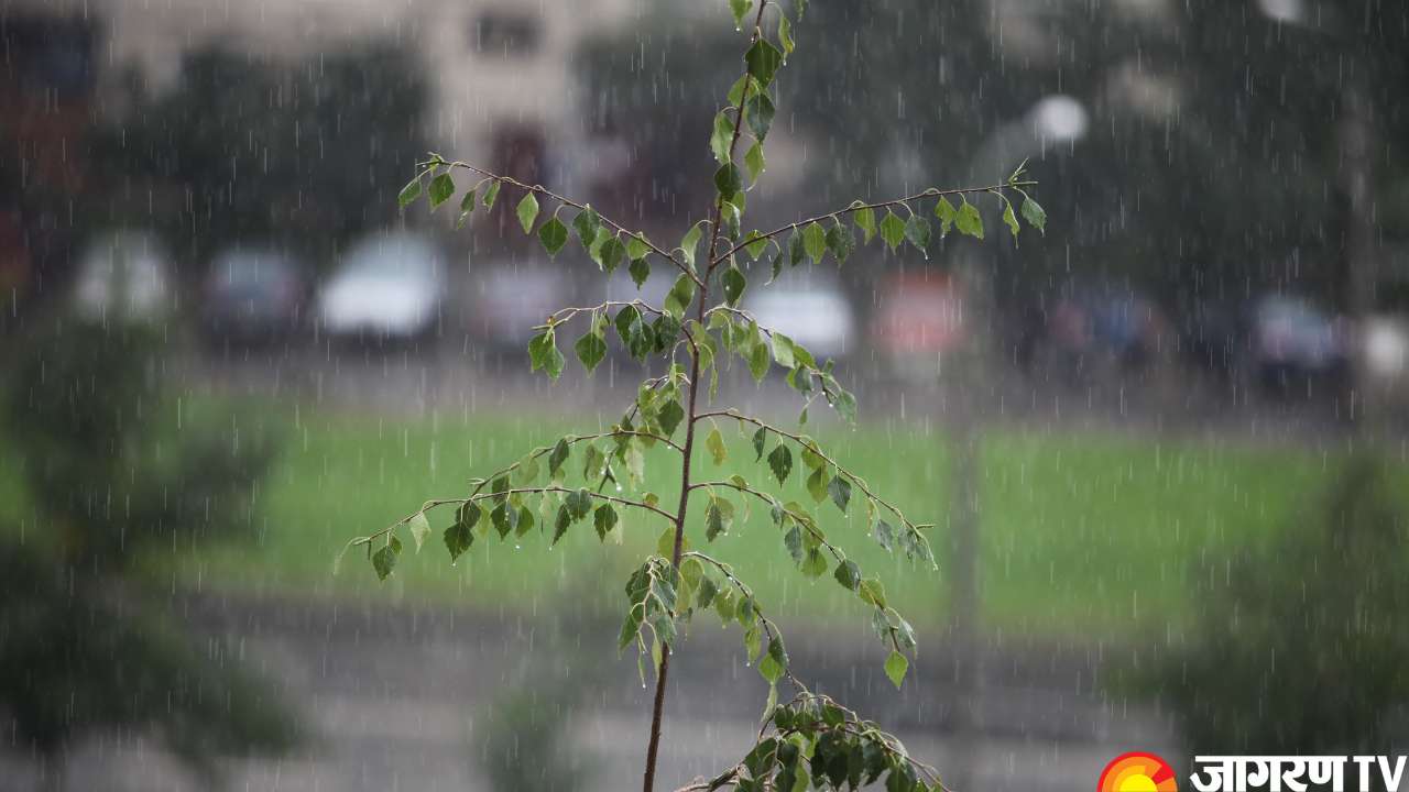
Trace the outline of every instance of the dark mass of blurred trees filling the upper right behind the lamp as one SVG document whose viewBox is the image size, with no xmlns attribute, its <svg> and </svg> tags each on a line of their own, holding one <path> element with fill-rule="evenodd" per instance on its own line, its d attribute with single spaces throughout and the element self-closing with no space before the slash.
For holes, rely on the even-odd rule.
<svg viewBox="0 0 1409 792">
<path fill-rule="evenodd" d="M 879 182 L 964 180 L 974 156 L 1044 96 L 1092 114 L 1085 140 L 1031 166 L 1053 223 L 996 272 L 1000 297 L 1050 290 L 1071 268 L 1134 280 L 1167 304 L 1260 286 L 1341 295 L 1339 121 L 1364 86 L 1377 196 L 1409 171 L 1409 8 L 1381 0 L 817 4 L 819 52 L 793 73 L 797 121 L 831 166 L 821 194 Z M 1284 6 L 1284 4 L 1272 4 Z M 931 85 L 912 96 L 906 85 Z M 1403 230 L 1403 203 L 1379 228 Z M 1386 213 L 1388 211 L 1388 213 Z M 1034 255 L 1038 254 L 1038 255 Z"/>
</svg>

